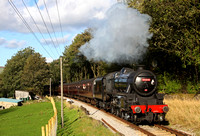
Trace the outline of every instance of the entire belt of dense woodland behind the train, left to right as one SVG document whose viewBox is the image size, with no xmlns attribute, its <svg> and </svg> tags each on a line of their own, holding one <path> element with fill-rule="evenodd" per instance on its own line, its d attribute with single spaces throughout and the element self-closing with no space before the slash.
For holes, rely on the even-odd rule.
<svg viewBox="0 0 200 136">
<path fill-rule="evenodd" d="M 200 3 L 198 0 L 130 0 L 130 8 L 152 17 L 148 51 L 135 64 L 107 64 L 88 61 L 79 48 L 92 38 L 92 28 L 78 34 L 63 52 L 65 82 L 73 82 L 143 64 L 158 76 L 159 91 L 197 93 L 200 91 Z M 126 20 L 124 20 L 126 21 Z M 153 66 L 152 66 L 153 63 Z M 52 78 L 59 85 L 59 59 L 47 64 L 45 58 L 28 47 L 7 61 L 0 75 L 0 96 L 13 96 L 14 90 L 43 94 Z M 155 67 L 155 65 L 157 65 Z M 54 88 L 55 89 L 55 88 Z"/>
</svg>

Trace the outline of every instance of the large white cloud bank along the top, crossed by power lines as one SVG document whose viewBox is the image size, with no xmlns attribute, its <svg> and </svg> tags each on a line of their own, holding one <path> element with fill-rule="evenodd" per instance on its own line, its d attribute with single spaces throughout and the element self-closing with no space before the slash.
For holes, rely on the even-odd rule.
<svg viewBox="0 0 200 136">
<path fill-rule="evenodd" d="M 22 1 L 12 0 L 16 4 L 18 10 L 21 12 L 24 19 L 28 22 L 34 32 L 38 32 L 32 21 L 26 8 L 23 6 Z M 25 1 L 25 0 L 24 0 Z M 80 29 L 88 27 L 88 24 L 95 20 L 100 20 L 104 17 L 106 10 L 116 3 L 116 0 L 57 0 L 59 13 L 61 17 L 61 23 L 63 31 L 70 31 L 73 29 Z M 58 19 L 58 12 L 55 0 L 45 0 L 48 7 L 48 11 L 51 17 L 51 21 L 55 28 L 55 31 L 60 31 L 60 24 Z M 35 6 L 34 2 L 30 4 L 30 0 L 25 3 L 28 6 L 30 13 L 32 14 L 35 22 L 43 33 L 46 33 L 46 28 L 40 17 L 40 14 Z M 31 6 L 30 6 L 31 5 Z M 43 0 L 38 1 L 38 5 L 41 8 L 41 13 L 48 26 L 49 31 L 52 32 L 50 21 L 44 8 Z M 0 2 L 0 30 L 11 30 L 16 32 L 29 32 L 17 14 L 14 12 L 8 1 L 3 0 Z"/>
</svg>

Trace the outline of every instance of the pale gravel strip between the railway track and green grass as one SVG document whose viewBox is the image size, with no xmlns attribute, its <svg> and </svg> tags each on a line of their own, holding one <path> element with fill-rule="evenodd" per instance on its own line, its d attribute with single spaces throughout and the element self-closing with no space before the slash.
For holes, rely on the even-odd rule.
<svg viewBox="0 0 200 136">
<path fill-rule="evenodd" d="M 68 100 L 69 99 L 67 99 L 67 101 Z M 122 121 L 117 120 L 114 117 L 107 115 L 106 113 L 104 113 L 100 110 L 97 110 L 83 102 L 80 102 L 80 101 L 77 101 L 74 99 L 72 99 L 72 101 L 73 101 L 72 105 L 76 105 L 79 107 L 82 106 L 82 107 L 86 108 L 87 111 L 89 111 L 88 116 L 90 116 L 96 120 L 99 120 L 101 122 L 102 122 L 102 119 L 104 119 L 108 124 L 110 124 L 113 128 L 115 128 L 117 131 L 119 131 L 122 135 L 125 135 L 125 136 L 142 136 L 143 135 L 142 133 L 130 128 L 127 124 L 123 123 Z"/>
</svg>

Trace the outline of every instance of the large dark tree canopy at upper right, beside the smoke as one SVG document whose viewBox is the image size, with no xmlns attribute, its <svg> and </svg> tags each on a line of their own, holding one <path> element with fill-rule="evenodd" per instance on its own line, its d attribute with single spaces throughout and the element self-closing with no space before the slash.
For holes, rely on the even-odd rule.
<svg viewBox="0 0 200 136">
<path fill-rule="evenodd" d="M 152 17 L 149 40 L 150 55 L 159 58 L 159 63 L 174 56 L 172 61 L 181 63 L 163 64 L 162 67 L 177 67 L 172 74 L 190 77 L 198 82 L 200 74 L 200 3 L 195 0 L 131 0 L 130 7 Z M 181 73 L 182 72 L 182 73 Z M 191 75 L 191 76 L 190 76 Z"/>
</svg>

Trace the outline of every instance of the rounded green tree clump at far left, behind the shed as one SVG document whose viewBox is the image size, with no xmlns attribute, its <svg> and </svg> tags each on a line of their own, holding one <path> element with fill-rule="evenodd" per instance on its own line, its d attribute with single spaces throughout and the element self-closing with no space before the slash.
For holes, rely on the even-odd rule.
<svg viewBox="0 0 200 136">
<path fill-rule="evenodd" d="M 15 90 L 28 89 L 42 93 L 48 77 L 48 66 L 45 58 L 31 48 L 25 48 L 7 61 L 2 73 L 2 90 L 11 97 Z"/>
</svg>

